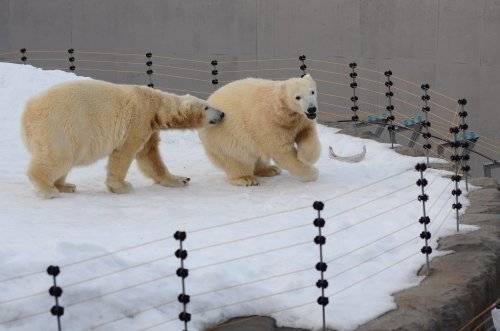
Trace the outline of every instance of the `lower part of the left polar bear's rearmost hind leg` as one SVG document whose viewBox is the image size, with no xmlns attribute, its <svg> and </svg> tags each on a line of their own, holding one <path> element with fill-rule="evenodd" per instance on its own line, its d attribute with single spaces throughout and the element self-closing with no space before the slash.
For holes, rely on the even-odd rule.
<svg viewBox="0 0 500 331">
<path fill-rule="evenodd" d="M 55 170 L 57 169 L 52 164 L 46 164 L 35 158 L 28 167 L 28 178 L 35 187 L 37 195 L 43 199 L 59 196 L 59 190 L 54 185 L 55 179 L 59 177 Z"/>
</svg>

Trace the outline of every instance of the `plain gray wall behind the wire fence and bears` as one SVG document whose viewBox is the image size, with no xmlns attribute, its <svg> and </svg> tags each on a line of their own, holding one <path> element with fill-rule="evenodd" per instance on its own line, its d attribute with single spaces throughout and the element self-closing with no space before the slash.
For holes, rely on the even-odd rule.
<svg viewBox="0 0 500 331">
<path fill-rule="evenodd" d="M 77 51 L 137 54 L 152 51 L 202 61 L 184 65 L 207 70 L 207 74 L 193 73 L 207 80 L 211 78 L 208 62 L 213 58 L 222 61 L 296 58 L 304 53 L 308 59 L 343 64 L 355 61 L 371 70 L 391 69 L 406 80 L 427 82 L 452 98 L 466 98 L 471 127 L 493 139 L 482 151 L 496 159 L 500 158 L 500 146 L 496 143 L 500 141 L 499 44 L 500 0 L 0 0 L 0 53 L 14 52 L 0 56 L 0 61 L 18 59 L 17 52 L 22 47 L 59 51 L 73 47 Z M 63 62 L 67 54 L 42 55 L 61 58 L 62 62 L 31 63 L 67 66 Z M 33 61 L 36 56 L 44 57 L 29 55 Z M 77 56 L 77 62 L 82 56 Z M 104 59 L 93 56 L 95 60 Z M 113 55 L 105 59 L 132 61 Z M 298 61 L 285 62 L 228 63 L 220 66 L 219 78 L 232 80 L 248 75 L 282 78 L 299 74 L 298 70 L 224 74 L 245 68 L 298 67 Z M 85 65 L 77 63 L 77 68 Z M 170 65 L 179 63 L 170 61 Z M 308 65 L 311 69 L 348 72 L 345 66 L 322 62 L 308 62 Z M 133 71 L 131 66 L 108 63 L 102 68 Z M 93 67 L 97 68 L 97 64 Z M 111 81 L 145 82 L 144 75 L 134 73 L 80 73 Z M 170 73 L 180 75 L 180 71 Z M 348 81 L 332 74 L 312 73 L 322 80 Z M 372 80 L 385 79 L 372 71 L 360 71 L 361 75 Z M 209 83 L 200 85 L 199 81 L 160 83 L 205 93 L 213 89 Z M 360 84 L 369 83 L 360 81 Z M 411 84 L 401 81 L 397 84 L 421 94 Z M 373 88 L 384 91 L 384 87 L 373 85 Z M 351 93 L 345 87 L 326 83 L 320 83 L 321 91 L 343 96 Z M 362 100 L 385 106 L 384 96 L 363 93 L 360 91 Z M 456 108 L 455 101 L 434 97 L 433 101 Z M 325 111 L 349 114 L 348 110 L 326 103 L 350 107 L 350 101 L 325 95 L 321 98 Z M 420 102 L 411 96 L 405 100 Z M 408 114 L 417 112 L 404 104 L 396 108 Z M 452 118 L 446 111 L 440 114 Z M 480 173 L 477 169 L 482 162 L 482 159 L 474 161 L 475 174 Z M 500 169 L 494 173 L 498 178 Z"/>
</svg>

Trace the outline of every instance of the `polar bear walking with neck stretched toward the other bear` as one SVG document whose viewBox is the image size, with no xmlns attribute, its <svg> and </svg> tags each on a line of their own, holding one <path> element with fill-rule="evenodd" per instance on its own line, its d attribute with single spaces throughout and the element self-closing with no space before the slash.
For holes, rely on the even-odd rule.
<svg viewBox="0 0 500 331">
<path fill-rule="evenodd" d="M 132 186 L 125 176 L 134 160 L 155 183 L 178 187 L 190 180 L 170 174 L 158 149 L 159 131 L 219 123 L 224 113 L 190 95 L 98 80 L 62 83 L 28 100 L 21 135 L 32 154 L 28 177 L 42 198 L 74 192 L 66 183 L 74 166 L 109 156 L 106 185 L 114 193 Z"/>
</svg>

